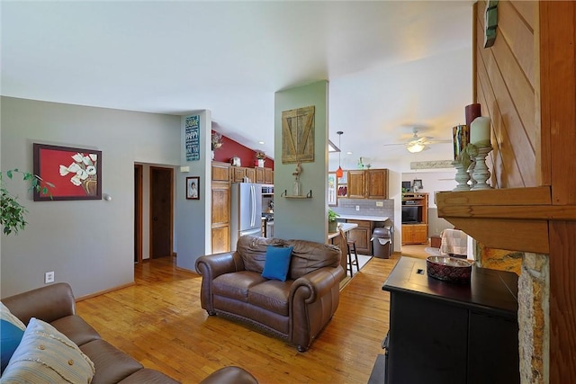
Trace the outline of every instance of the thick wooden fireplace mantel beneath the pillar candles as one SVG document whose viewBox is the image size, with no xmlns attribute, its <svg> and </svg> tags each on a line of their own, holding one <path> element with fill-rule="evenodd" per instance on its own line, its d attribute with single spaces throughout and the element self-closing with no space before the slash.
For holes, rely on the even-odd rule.
<svg viewBox="0 0 576 384">
<path fill-rule="evenodd" d="M 438 216 L 491 248 L 549 254 L 548 222 L 574 220 L 576 205 L 553 205 L 551 188 L 437 192 Z"/>
</svg>

